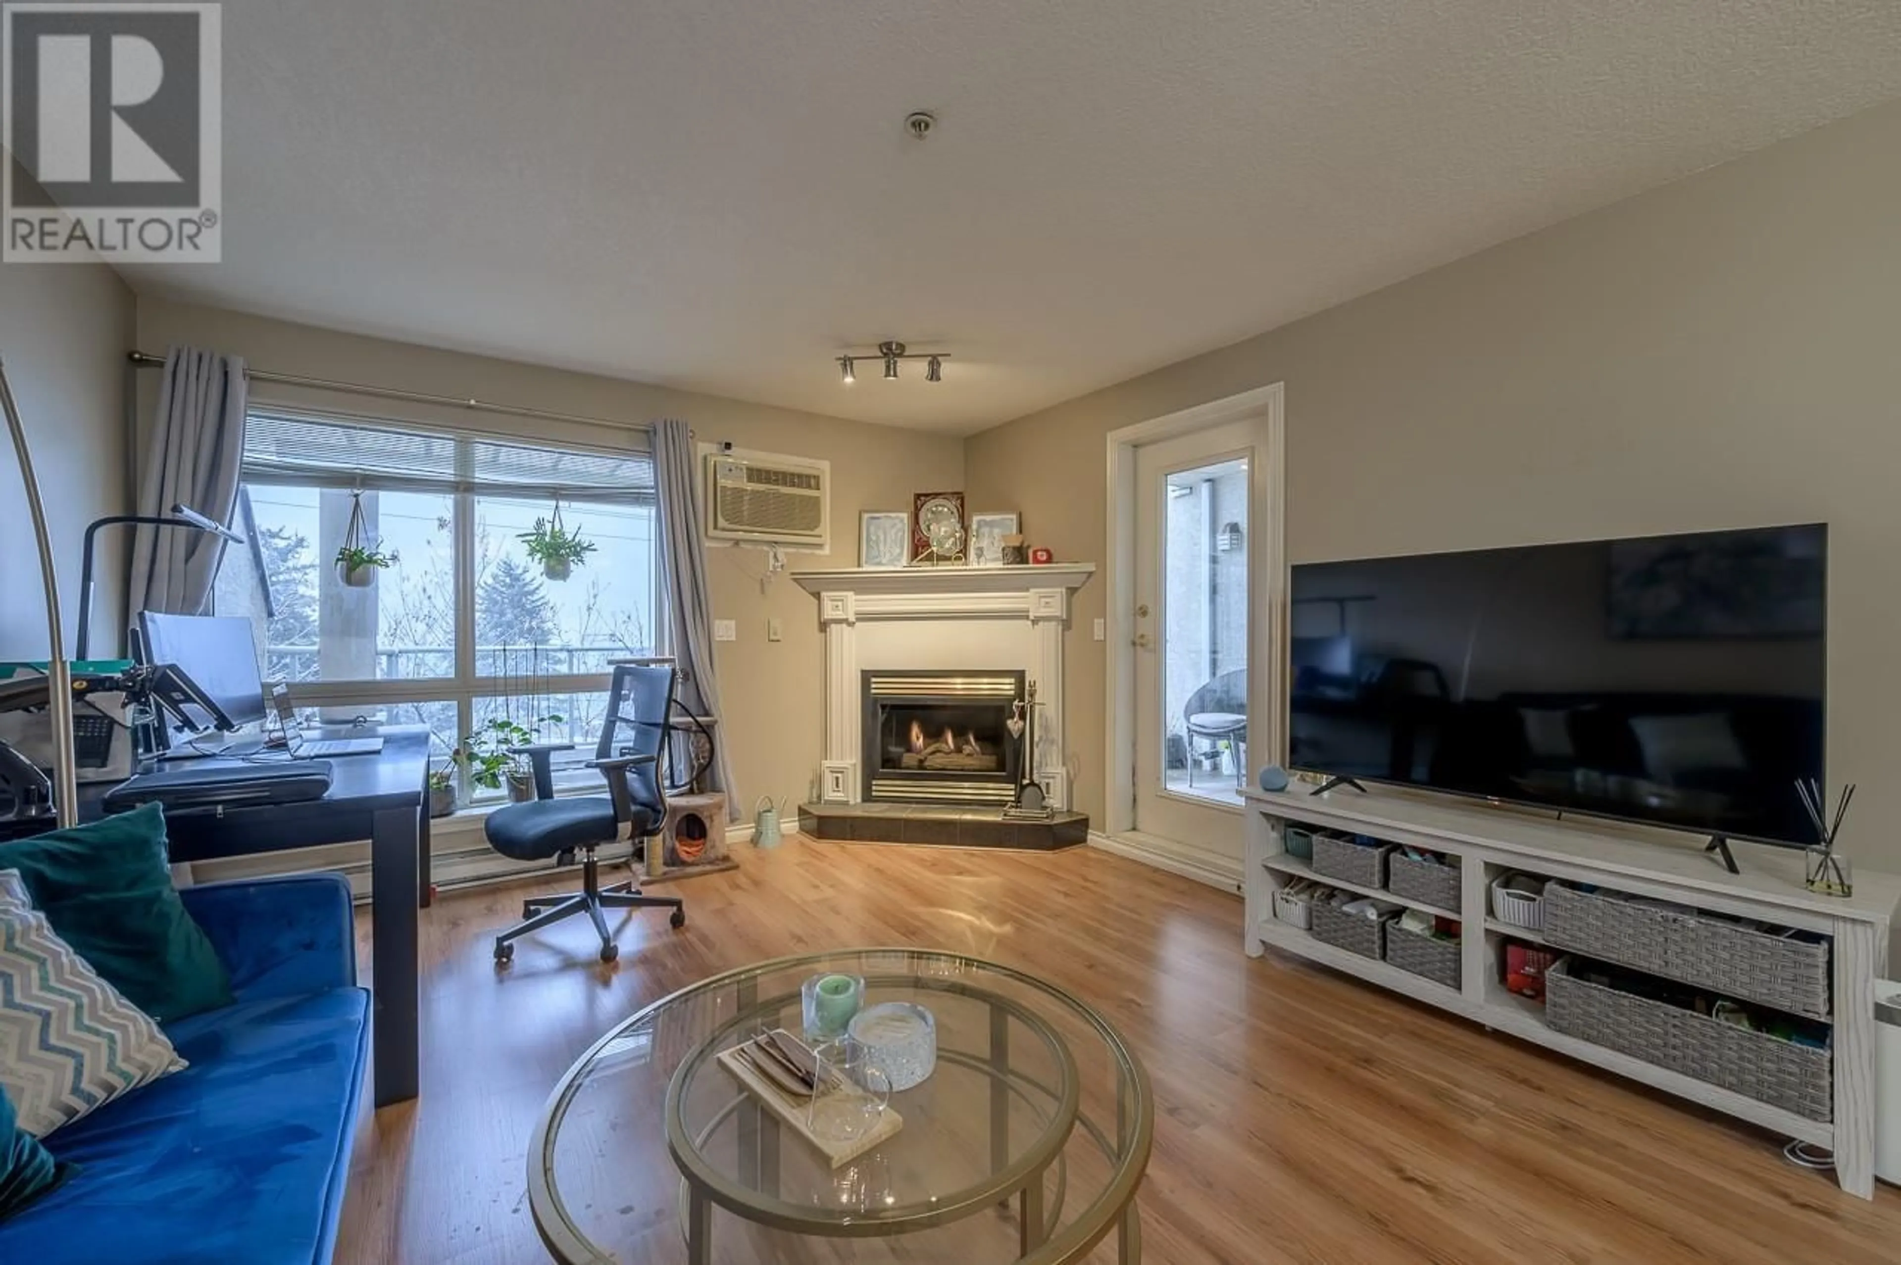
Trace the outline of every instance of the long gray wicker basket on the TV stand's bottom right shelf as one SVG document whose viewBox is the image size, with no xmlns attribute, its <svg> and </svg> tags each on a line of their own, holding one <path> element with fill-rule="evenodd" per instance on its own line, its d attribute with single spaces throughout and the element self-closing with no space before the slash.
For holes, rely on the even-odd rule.
<svg viewBox="0 0 1901 1265">
<path fill-rule="evenodd" d="M 1572 961 L 1563 957 L 1546 972 L 1546 1022 L 1553 1031 L 1810 1121 L 1834 1119 L 1834 1058 L 1829 1050 L 1589 984 L 1570 974 Z"/>
</svg>

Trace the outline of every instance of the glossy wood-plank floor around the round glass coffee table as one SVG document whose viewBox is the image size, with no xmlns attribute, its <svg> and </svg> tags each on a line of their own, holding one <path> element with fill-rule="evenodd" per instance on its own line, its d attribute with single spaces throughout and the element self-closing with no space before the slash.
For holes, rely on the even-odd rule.
<svg viewBox="0 0 1901 1265">
<path fill-rule="evenodd" d="M 612 967 L 586 919 L 490 963 L 523 895 L 572 878 L 424 914 L 422 1098 L 365 1109 L 338 1261 L 547 1259 L 525 1153 L 563 1069 L 675 988 L 852 944 L 1006 961 L 1127 1033 L 1156 1090 L 1152 1265 L 1901 1259 L 1901 1193 L 1846 1197 L 1776 1138 L 1272 950 L 1249 961 L 1238 897 L 1093 849 L 738 851 L 669 889 L 684 931 L 629 919 Z M 357 942 L 367 961 L 367 912 Z"/>
</svg>

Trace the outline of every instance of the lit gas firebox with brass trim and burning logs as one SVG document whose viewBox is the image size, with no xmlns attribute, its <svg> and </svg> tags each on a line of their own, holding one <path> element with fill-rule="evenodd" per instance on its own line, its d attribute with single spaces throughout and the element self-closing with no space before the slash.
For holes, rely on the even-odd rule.
<svg viewBox="0 0 1901 1265">
<path fill-rule="evenodd" d="M 865 800 L 1006 805 L 1023 743 L 1009 731 L 1023 672 L 861 672 Z"/>
</svg>

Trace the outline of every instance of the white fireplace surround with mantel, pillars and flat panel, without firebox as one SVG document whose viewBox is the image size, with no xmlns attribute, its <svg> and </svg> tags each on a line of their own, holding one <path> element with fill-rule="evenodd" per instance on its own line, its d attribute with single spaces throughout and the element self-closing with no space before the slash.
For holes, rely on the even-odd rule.
<svg viewBox="0 0 1901 1265">
<path fill-rule="evenodd" d="M 863 798 L 867 669 L 1023 669 L 1036 684 L 1036 781 L 1066 809 L 1063 629 L 1070 593 L 1093 574 L 1087 562 L 795 572 L 825 627 L 823 800 Z"/>
</svg>

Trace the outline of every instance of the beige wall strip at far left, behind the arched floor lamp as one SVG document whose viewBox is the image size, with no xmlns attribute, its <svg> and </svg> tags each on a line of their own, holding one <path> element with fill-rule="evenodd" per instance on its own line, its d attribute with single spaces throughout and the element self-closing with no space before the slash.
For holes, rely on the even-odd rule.
<svg viewBox="0 0 1901 1265">
<path fill-rule="evenodd" d="M 131 291 L 103 264 L 0 266 L 0 359 L 19 397 L 53 538 L 67 651 L 80 614 L 80 538 L 125 503 L 125 348 Z M 127 532 L 103 534 L 95 627 L 118 627 Z M 95 646 L 97 650 L 97 646 Z M 46 657 L 32 519 L 13 443 L 0 437 L 0 659 Z"/>
</svg>

